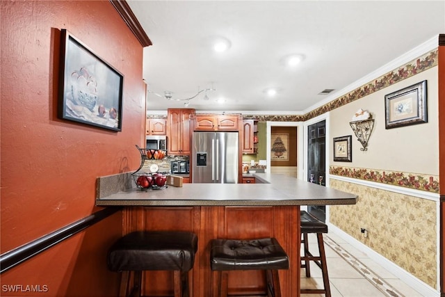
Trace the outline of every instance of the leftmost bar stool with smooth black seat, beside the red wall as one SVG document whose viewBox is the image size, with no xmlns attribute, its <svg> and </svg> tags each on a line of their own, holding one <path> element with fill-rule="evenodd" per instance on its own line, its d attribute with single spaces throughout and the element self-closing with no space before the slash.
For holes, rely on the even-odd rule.
<svg viewBox="0 0 445 297">
<path fill-rule="evenodd" d="M 138 231 L 118 239 L 108 250 L 111 271 L 122 272 L 119 296 L 140 296 L 142 271 L 174 271 L 175 297 L 189 296 L 188 271 L 193 268 L 197 236 L 193 232 Z M 134 274 L 129 290 L 130 274 Z"/>
</svg>

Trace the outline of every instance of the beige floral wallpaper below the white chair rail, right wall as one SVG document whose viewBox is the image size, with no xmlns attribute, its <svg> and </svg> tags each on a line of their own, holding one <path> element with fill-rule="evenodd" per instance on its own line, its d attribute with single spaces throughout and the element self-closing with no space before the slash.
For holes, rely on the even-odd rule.
<svg viewBox="0 0 445 297">
<path fill-rule="evenodd" d="M 436 202 L 330 179 L 330 187 L 358 195 L 357 204 L 330 206 L 330 222 L 391 262 L 436 287 Z M 360 228 L 368 230 L 365 238 Z"/>
</svg>

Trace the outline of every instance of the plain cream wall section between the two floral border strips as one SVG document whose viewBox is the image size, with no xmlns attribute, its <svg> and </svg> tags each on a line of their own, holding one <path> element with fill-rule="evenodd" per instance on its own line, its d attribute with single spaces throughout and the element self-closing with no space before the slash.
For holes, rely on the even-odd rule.
<svg viewBox="0 0 445 297">
<path fill-rule="evenodd" d="M 426 80 L 428 85 L 428 122 L 393 129 L 385 129 L 385 95 Z M 439 117 L 437 66 L 410 78 L 393 83 L 355 102 L 330 112 L 330 135 L 353 136 L 353 162 L 335 162 L 330 154 L 330 166 L 350 166 L 439 175 Z M 368 110 L 375 124 L 369 138 L 368 150 L 361 151 L 349 122 L 358 109 Z M 422 141 L 419 141 L 421 139 Z"/>
</svg>

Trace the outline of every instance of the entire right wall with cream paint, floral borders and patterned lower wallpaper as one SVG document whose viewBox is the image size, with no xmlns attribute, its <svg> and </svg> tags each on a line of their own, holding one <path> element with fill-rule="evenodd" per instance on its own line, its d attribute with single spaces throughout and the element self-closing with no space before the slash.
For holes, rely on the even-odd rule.
<svg viewBox="0 0 445 297">
<path fill-rule="evenodd" d="M 423 80 L 428 85 L 428 122 L 385 129 L 385 95 Z M 357 88 L 353 94 L 362 97 L 330 112 L 330 136 L 353 136 L 353 161 L 333 161 L 330 154 L 330 175 L 438 193 L 437 89 L 437 49 Z M 360 150 L 362 145 L 349 125 L 358 109 L 368 110 L 375 119 L 366 151 Z M 330 186 L 359 196 L 354 206 L 330 207 L 332 224 L 437 287 L 437 202 L 335 179 L 330 179 Z M 362 237 L 360 227 L 369 230 L 368 239 Z"/>
</svg>

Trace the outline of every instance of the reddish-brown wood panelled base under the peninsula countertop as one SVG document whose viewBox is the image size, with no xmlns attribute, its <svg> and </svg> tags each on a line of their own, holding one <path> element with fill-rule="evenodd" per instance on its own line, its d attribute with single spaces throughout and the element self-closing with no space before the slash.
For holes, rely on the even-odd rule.
<svg viewBox="0 0 445 297">
<path fill-rule="evenodd" d="M 168 191 L 165 190 L 165 191 Z M 135 230 L 195 232 L 198 250 L 191 270 L 191 296 L 216 297 L 209 263 L 211 239 L 260 239 L 275 237 L 289 255 L 289 270 L 280 270 L 282 296 L 297 297 L 300 280 L 299 206 L 196 206 L 126 207 L 124 233 Z M 172 271 L 143 273 L 143 296 L 172 296 Z M 266 292 L 261 271 L 230 271 L 229 294 L 261 295 Z"/>
</svg>

